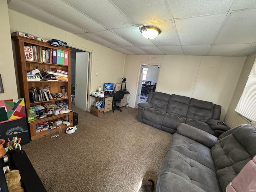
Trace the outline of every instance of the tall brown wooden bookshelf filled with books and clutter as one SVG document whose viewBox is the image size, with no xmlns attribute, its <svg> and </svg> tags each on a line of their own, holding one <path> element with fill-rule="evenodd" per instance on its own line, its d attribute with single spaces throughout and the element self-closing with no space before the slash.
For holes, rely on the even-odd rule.
<svg viewBox="0 0 256 192">
<path fill-rule="evenodd" d="M 17 62 L 17 69 L 18 69 L 18 79 L 19 79 L 19 87 L 20 87 L 20 96 L 24 98 L 25 100 L 25 106 L 26 109 L 30 108 L 31 106 L 35 106 L 38 104 L 42 104 L 44 102 L 49 103 L 56 103 L 56 101 L 65 100 L 68 103 L 69 109 L 71 110 L 71 86 L 70 86 L 70 48 L 62 47 L 62 46 L 51 46 L 49 43 L 41 42 L 38 40 L 22 37 L 22 36 L 12 36 L 12 40 L 14 40 L 14 46 L 15 46 L 15 53 L 16 53 L 16 62 Z M 46 63 L 46 62 L 38 62 L 38 61 L 29 61 L 25 59 L 25 52 L 24 52 L 24 46 L 41 46 L 42 48 L 53 48 L 58 49 L 64 52 L 68 52 L 68 65 L 61 65 L 61 64 L 53 64 L 53 63 Z M 38 68 L 42 71 L 43 69 L 50 70 L 51 68 L 57 68 L 59 70 L 63 70 L 68 72 L 68 81 L 28 81 L 27 80 L 27 72 L 32 71 L 34 69 Z M 29 97 L 29 91 L 28 89 L 31 87 L 44 87 L 46 85 L 50 85 L 48 89 L 50 92 L 53 93 L 59 93 L 61 92 L 60 86 L 66 86 L 66 92 L 68 93 L 68 98 L 58 98 L 53 99 L 50 101 L 37 101 L 35 103 L 30 102 Z M 33 122 L 28 122 L 28 130 L 30 134 L 30 139 L 35 140 L 38 138 L 42 138 L 44 136 L 47 136 L 52 133 L 59 132 L 59 129 L 56 129 L 54 131 L 42 131 L 39 133 L 36 133 L 36 124 L 40 122 L 45 121 L 56 121 L 61 117 L 68 116 L 70 126 L 73 125 L 73 112 L 65 113 L 65 114 L 59 114 L 55 116 L 50 116 L 42 119 L 38 119 Z M 66 129 L 67 126 L 61 125 L 62 129 Z"/>
</svg>

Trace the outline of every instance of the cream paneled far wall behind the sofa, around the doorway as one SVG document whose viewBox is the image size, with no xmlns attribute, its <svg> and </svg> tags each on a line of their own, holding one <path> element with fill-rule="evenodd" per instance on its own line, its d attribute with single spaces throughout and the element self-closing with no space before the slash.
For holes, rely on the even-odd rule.
<svg viewBox="0 0 256 192">
<path fill-rule="evenodd" d="M 156 91 L 178 94 L 213 102 L 222 106 L 224 120 L 246 57 L 224 56 L 155 56 L 126 55 L 124 76 L 130 92 L 137 93 L 140 64 L 160 65 Z M 129 105 L 135 106 L 136 94 Z"/>
</svg>

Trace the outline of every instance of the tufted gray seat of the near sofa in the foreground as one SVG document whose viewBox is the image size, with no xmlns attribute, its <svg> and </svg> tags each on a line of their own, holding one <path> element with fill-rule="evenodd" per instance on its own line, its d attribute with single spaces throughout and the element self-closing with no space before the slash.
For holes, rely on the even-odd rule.
<svg viewBox="0 0 256 192">
<path fill-rule="evenodd" d="M 187 180 L 202 190 L 220 191 L 210 148 L 177 133 L 172 136 L 159 180 L 166 172 L 180 176 L 181 183 Z"/>
</svg>

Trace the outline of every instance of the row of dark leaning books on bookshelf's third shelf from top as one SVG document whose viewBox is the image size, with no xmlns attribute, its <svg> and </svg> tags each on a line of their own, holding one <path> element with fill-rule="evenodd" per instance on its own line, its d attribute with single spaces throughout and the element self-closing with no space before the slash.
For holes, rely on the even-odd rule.
<svg viewBox="0 0 256 192">
<path fill-rule="evenodd" d="M 42 101 L 50 101 L 54 98 L 60 98 L 57 94 L 50 92 L 50 90 L 46 87 L 31 87 L 28 89 L 29 91 L 29 100 L 30 103 L 42 102 Z"/>
</svg>

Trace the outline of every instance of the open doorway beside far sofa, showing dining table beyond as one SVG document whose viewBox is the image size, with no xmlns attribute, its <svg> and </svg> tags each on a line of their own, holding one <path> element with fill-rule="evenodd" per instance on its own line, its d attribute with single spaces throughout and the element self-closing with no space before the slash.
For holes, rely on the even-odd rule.
<svg viewBox="0 0 256 192">
<path fill-rule="evenodd" d="M 159 64 L 141 64 L 136 107 L 140 102 L 146 102 L 149 92 L 154 92 L 157 85 Z M 146 89 L 144 86 L 146 85 Z"/>
</svg>

